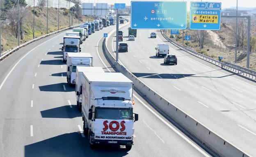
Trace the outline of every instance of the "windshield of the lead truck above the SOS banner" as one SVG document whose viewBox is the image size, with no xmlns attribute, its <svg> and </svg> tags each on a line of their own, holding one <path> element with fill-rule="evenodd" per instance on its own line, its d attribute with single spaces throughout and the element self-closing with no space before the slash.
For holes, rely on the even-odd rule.
<svg viewBox="0 0 256 157">
<path fill-rule="evenodd" d="M 96 119 L 133 119 L 132 108 L 96 108 Z"/>
</svg>

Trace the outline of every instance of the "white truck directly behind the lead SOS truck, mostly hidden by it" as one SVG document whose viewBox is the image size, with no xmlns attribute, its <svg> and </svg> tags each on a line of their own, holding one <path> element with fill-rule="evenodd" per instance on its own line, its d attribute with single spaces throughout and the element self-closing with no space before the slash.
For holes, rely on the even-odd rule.
<svg viewBox="0 0 256 157">
<path fill-rule="evenodd" d="M 78 106 L 78 110 L 81 112 L 82 110 L 82 73 L 83 72 L 98 72 L 104 73 L 102 67 L 99 66 L 76 66 L 75 73 L 75 95 L 76 95 L 76 104 Z"/>
</svg>

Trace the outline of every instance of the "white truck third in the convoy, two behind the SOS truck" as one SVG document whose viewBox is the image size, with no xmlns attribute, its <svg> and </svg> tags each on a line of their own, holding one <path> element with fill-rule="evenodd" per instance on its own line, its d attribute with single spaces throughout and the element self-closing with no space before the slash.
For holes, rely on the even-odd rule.
<svg viewBox="0 0 256 157">
<path fill-rule="evenodd" d="M 69 85 L 75 84 L 76 66 L 92 66 L 92 56 L 90 53 L 68 53 L 67 54 L 67 82 Z"/>
</svg>

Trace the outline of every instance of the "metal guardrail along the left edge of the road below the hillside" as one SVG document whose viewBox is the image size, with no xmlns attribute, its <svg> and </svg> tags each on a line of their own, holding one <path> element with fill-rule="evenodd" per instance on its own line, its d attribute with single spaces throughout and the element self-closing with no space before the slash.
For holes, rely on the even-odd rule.
<svg viewBox="0 0 256 157">
<path fill-rule="evenodd" d="M 28 44 L 31 44 L 32 42 L 35 42 L 35 41 L 37 41 L 37 40 L 46 38 L 46 37 L 48 37 L 48 36 L 50 36 L 50 35 L 53 35 L 53 34 L 56 34 L 56 33 L 62 32 L 62 31 L 66 31 L 66 30 L 68 30 L 68 29 L 71 29 L 71 28 L 74 28 L 74 27 L 78 27 L 78 26 L 80 26 L 80 24 L 76 24 L 76 25 L 71 26 L 71 27 L 68 27 L 68 28 L 60 29 L 59 31 L 54 31 L 54 32 L 52 32 L 52 33 L 48 33 L 48 34 L 46 34 L 46 35 L 43 35 L 43 36 L 40 36 L 40 37 L 38 37 L 38 38 L 32 39 L 32 40 L 30 40 L 30 41 L 28 41 L 28 42 L 25 42 L 25 43 L 21 44 L 20 46 L 16 46 L 16 47 L 14 47 L 13 49 L 11 49 L 10 51 L 8 51 L 8 52 L 6 52 L 6 53 L 3 53 L 3 55 L 0 57 L 0 61 L 3 60 L 3 59 L 5 59 L 7 56 L 9 56 L 10 54 L 14 53 L 15 51 L 17 51 L 18 49 L 20 49 L 20 48 L 23 47 L 23 46 L 27 46 Z"/>
</svg>

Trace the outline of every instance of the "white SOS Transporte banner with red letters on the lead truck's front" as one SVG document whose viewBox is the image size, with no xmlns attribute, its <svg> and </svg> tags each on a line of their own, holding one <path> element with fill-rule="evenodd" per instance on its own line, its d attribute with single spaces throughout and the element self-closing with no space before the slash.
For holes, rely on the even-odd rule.
<svg viewBox="0 0 256 157">
<path fill-rule="evenodd" d="M 94 135 L 95 139 L 132 140 L 133 120 L 96 119 Z"/>
</svg>

